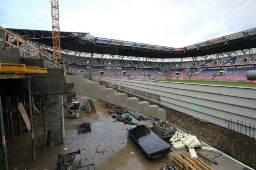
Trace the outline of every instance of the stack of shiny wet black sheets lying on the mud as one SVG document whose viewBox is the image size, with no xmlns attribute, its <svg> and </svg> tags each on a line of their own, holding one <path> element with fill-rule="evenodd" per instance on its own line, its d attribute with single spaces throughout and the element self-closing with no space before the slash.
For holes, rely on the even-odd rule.
<svg viewBox="0 0 256 170">
<path fill-rule="evenodd" d="M 158 158 L 159 156 L 169 154 L 172 151 L 170 145 L 145 125 L 128 127 L 127 131 L 130 137 L 137 143 L 148 158 Z"/>
</svg>

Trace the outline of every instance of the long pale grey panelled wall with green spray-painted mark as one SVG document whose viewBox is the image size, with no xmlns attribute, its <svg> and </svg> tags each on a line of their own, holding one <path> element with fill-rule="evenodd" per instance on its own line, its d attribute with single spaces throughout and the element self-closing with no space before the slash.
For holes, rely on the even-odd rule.
<svg viewBox="0 0 256 170">
<path fill-rule="evenodd" d="M 158 94 L 161 105 L 226 127 L 225 119 L 256 124 L 256 89 L 134 79 L 106 79 L 112 84 Z M 227 122 L 228 123 L 228 122 Z M 256 131 L 255 131 L 256 132 Z M 256 134 L 254 135 L 256 136 Z"/>
</svg>

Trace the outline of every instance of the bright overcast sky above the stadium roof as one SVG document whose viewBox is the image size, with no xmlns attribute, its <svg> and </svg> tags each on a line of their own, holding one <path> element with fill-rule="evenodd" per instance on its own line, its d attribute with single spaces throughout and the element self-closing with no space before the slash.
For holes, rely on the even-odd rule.
<svg viewBox="0 0 256 170">
<path fill-rule="evenodd" d="M 50 0 L 0 0 L 0 25 L 52 30 Z M 256 0 L 59 0 L 60 31 L 184 47 L 256 27 Z"/>
</svg>

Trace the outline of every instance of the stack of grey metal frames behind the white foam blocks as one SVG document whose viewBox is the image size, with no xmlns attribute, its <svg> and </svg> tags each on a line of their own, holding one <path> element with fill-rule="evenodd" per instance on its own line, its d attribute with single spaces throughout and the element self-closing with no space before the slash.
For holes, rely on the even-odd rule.
<svg viewBox="0 0 256 170">
<path fill-rule="evenodd" d="M 154 121 L 152 131 L 160 138 L 166 139 L 174 135 L 175 131 L 177 131 L 177 126 L 174 126 L 165 120 Z"/>
</svg>

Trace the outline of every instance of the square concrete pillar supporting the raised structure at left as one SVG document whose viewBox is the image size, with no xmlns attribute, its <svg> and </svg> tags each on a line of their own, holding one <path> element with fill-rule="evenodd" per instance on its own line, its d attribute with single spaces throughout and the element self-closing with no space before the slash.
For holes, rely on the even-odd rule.
<svg viewBox="0 0 256 170">
<path fill-rule="evenodd" d="M 63 95 L 49 95 L 50 145 L 64 143 Z"/>
</svg>

